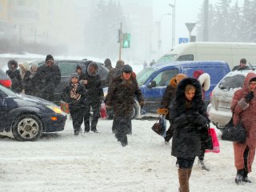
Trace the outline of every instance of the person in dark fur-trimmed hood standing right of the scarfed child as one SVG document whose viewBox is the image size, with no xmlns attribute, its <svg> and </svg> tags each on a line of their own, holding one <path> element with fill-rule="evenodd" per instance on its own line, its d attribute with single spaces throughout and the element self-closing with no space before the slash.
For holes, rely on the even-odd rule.
<svg viewBox="0 0 256 192">
<path fill-rule="evenodd" d="M 86 87 L 88 93 L 88 99 L 86 99 L 86 109 L 85 109 L 85 133 L 90 130 L 94 133 L 98 133 L 97 124 L 98 118 L 100 117 L 100 107 L 102 100 L 104 99 L 104 94 L 102 90 L 101 78 L 98 74 L 99 68 L 96 62 L 90 62 L 87 66 L 87 74 L 85 80 L 82 81 L 83 85 Z M 90 124 L 90 107 L 93 110 L 93 118 Z"/>
</svg>

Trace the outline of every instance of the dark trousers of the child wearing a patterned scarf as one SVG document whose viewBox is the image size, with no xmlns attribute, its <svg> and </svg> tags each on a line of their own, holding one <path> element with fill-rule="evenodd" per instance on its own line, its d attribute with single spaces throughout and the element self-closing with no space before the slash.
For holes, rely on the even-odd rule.
<svg viewBox="0 0 256 192">
<path fill-rule="evenodd" d="M 72 108 L 70 107 L 70 114 L 72 117 L 74 132 L 79 131 L 84 118 L 83 108 Z"/>
</svg>

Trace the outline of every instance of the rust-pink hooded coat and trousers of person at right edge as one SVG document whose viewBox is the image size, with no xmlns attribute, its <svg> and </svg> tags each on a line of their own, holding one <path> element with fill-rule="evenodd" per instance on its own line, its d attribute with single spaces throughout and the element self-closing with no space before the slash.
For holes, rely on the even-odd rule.
<svg viewBox="0 0 256 192">
<path fill-rule="evenodd" d="M 254 90 L 254 98 L 250 102 L 246 102 L 245 97 L 250 92 L 250 79 L 256 78 L 256 74 L 249 73 L 246 75 L 242 89 L 234 92 L 233 100 L 231 102 L 231 111 L 234 113 L 233 122 L 237 125 L 242 121 L 242 126 L 246 130 L 246 142 L 233 142 L 234 146 L 234 166 L 237 170 L 242 170 L 245 167 L 244 151 L 246 146 L 249 147 L 249 155 L 247 158 L 247 169 L 251 172 L 251 166 L 254 162 L 255 148 L 256 148 L 256 94 Z"/>
</svg>

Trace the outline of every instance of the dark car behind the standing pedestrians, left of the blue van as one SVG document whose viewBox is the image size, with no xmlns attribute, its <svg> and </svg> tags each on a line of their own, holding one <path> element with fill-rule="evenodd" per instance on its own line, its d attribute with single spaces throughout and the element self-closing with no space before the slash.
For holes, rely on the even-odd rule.
<svg viewBox="0 0 256 192">
<path fill-rule="evenodd" d="M 70 78 L 73 73 L 76 72 L 77 66 L 81 66 L 82 71 L 84 74 L 87 74 L 87 66 L 91 61 L 88 60 L 54 60 L 54 65 L 58 66 L 59 70 L 61 71 L 61 82 L 58 84 L 55 94 L 54 94 L 54 103 L 59 103 L 61 100 L 60 96 L 62 91 L 66 86 L 69 86 Z M 45 65 L 45 61 L 36 62 L 38 67 Z M 32 64 L 32 62 L 30 63 Z M 97 62 L 99 67 L 99 75 L 102 80 L 102 86 L 106 86 L 106 77 L 109 73 L 109 70 L 106 69 L 105 66 L 101 62 Z"/>
</svg>

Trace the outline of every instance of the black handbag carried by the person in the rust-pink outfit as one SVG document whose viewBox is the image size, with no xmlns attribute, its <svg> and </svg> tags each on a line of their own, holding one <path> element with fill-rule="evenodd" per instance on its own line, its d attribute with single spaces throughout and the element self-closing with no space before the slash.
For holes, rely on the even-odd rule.
<svg viewBox="0 0 256 192">
<path fill-rule="evenodd" d="M 241 121 L 237 126 L 234 126 L 233 115 L 230 122 L 222 130 L 222 140 L 239 143 L 246 142 L 246 130 L 243 128 Z"/>
</svg>

